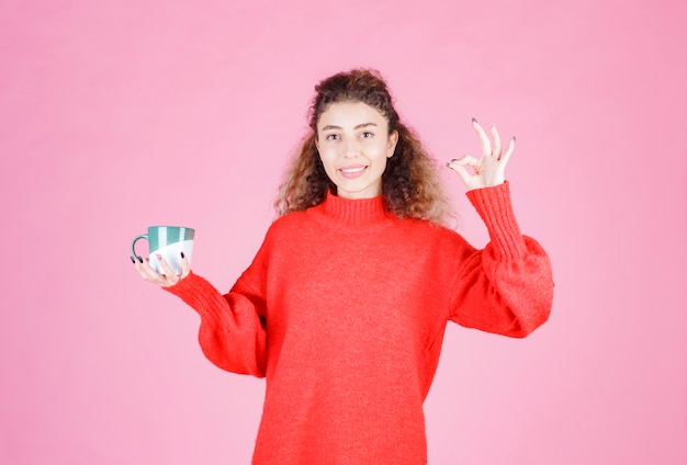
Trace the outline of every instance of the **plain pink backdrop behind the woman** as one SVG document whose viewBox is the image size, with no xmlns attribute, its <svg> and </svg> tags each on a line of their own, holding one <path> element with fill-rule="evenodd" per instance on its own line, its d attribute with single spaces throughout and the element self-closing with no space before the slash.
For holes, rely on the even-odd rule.
<svg viewBox="0 0 687 465">
<path fill-rule="evenodd" d="M 248 463 L 263 382 L 203 358 L 128 243 L 193 226 L 227 290 L 314 83 L 357 66 L 441 161 L 477 151 L 472 116 L 518 136 L 516 213 L 554 265 L 530 338 L 450 327 L 430 463 L 687 463 L 685 3 L 407 3 L 3 2 L 0 463 Z"/>
</svg>

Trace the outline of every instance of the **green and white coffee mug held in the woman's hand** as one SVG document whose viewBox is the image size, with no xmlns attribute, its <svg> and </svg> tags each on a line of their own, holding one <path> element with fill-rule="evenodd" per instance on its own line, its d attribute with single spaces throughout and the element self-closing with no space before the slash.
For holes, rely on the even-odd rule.
<svg viewBox="0 0 687 465">
<path fill-rule="evenodd" d="M 191 256 L 193 254 L 194 235 L 195 230 L 182 226 L 150 226 L 148 234 L 142 234 L 134 238 L 132 256 L 138 257 L 136 254 L 136 242 L 140 239 L 146 239 L 148 241 L 150 266 L 158 273 L 165 274 L 162 265 L 157 259 L 157 256 L 160 254 L 165 257 L 173 272 L 181 275 L 181 252 L 183 252 L 190 264 Z"/>
</svg>

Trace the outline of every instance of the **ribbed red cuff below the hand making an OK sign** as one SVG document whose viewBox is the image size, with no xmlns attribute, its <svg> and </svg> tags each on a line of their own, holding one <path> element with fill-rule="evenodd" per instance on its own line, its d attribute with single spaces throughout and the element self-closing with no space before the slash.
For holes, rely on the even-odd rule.
<svg viewBox="0 0 687 465">
<path fill-rule="evenodd" d="M 484 220 L 495 250 L 506 259 L 520 257 L 525 250 L 525 240 L 513 212 L 508 181 L 468 191 L 466 195 Z"/>
</svg>

